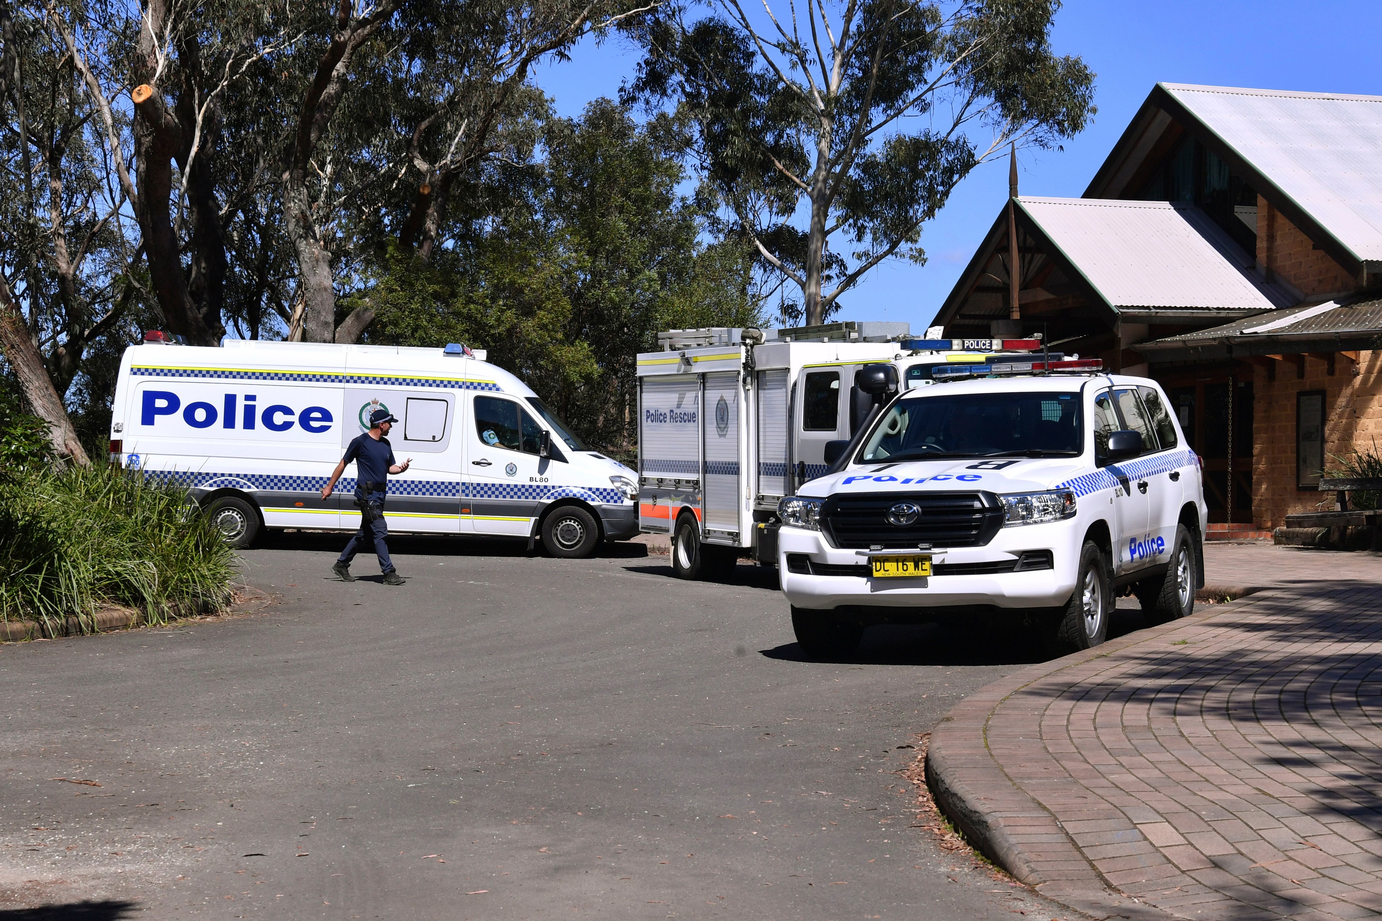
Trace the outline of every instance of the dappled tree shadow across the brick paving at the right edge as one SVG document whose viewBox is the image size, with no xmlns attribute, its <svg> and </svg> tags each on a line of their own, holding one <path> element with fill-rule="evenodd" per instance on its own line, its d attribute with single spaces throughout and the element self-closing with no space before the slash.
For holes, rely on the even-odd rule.
<svg viewBox="0 0 1382 921">
<path fill-rule="evenodd" d="M 1063 681 L 1035 682 L 1023 693 L 1118 697 L 1124 706 L 1144 704 L 1171 721 L 1201 712 L 1227 717 L 1253 740 L 1251 748 L 1234 750 L 1238 757 L 1269 775 L 1271 765 L 1296 770 L 1299 788 L 1310 787 L 1316 812 L 1342 813 L 1379 833 L 1379 610 L 1378 583 L 1314 580 L 1306 590 L 1288 588 L 1260 601 L 1240 623 L 1212 626 L 1234 631 L 1231 642 L 1186 634 L 1175 656 L 1159 643 L 1130 646 L 1118 653 L 1126 664 L 1107 679 L 1075 688 Z"/>
</svg>

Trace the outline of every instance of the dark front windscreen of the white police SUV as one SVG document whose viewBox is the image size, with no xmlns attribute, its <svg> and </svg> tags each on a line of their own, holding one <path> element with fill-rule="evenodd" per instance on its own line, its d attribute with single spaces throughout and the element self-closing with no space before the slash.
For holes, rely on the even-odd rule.
<svg viewBox="0 0 1382 921">
<path fill-rule="evenodd" d="M 902 399 L 869 435 L 860 461 L 1075 456 L 1083 450 L 1079 417 L 1078 391 Z"/>
</svg>

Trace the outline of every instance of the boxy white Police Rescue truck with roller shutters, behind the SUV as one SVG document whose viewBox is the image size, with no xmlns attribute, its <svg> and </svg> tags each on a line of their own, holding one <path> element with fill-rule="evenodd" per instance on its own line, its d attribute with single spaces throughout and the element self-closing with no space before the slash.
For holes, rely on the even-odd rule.
<svg viewBox="0 0 1382 921">
<path fill-rule="evenodd" d="M 879 399 L 860 388 L 864 366 L 890 363 L 914 389 L 931 384 L 933 367 L 1039 345 L 915 340 L 907 323 L 871 322 L 658 338 L 662 351 L 638 355 L 638 523 L 672 537 L 683 579 L 741 555 L 777 563 L 779 500 L 825 475 L 826 446 L 849 439 Z"/>
</svg>

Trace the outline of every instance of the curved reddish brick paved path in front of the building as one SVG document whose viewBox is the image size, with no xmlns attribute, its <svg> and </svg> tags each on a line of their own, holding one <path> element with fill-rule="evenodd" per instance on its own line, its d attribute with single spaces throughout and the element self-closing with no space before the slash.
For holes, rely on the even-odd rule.
<svg viewBox="0 0 1382 921">
<path fill-rule="evenodd" d="M 1260 563 L 1238 584 L 1305 572 L 1242 550 L 1280 552 L 1224 563 Z M 1382 556 L 1312 562 L 974 695 L 933 736 L 938 798 L 1093 914 L 1144 911 L 1111 886 L 1184 918 L 1382 915 Z"/>
</svg>

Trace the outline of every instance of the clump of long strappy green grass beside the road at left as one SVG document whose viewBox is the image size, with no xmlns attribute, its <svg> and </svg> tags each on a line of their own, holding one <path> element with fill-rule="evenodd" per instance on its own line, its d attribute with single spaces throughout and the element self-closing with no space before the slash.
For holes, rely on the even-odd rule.
<svg viewBox="0 0 1382 921">
<path fill-rule="evenodd" d="M 98 603 L 146 623 L 229 603 L 235 555 L 187 490 L 108 464 L 0 471 L 0 619 L 93 630 Z"/>
</svg>

